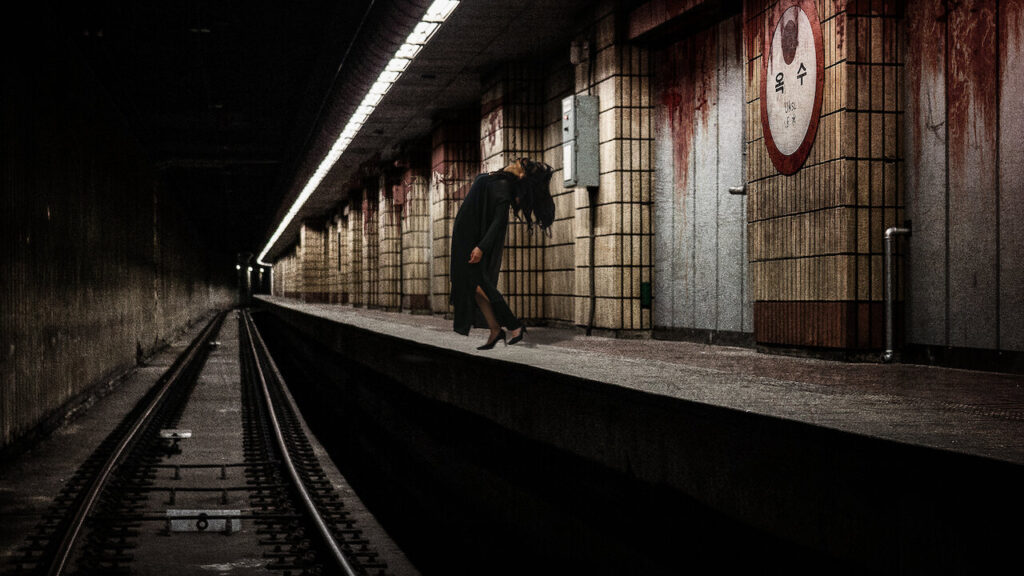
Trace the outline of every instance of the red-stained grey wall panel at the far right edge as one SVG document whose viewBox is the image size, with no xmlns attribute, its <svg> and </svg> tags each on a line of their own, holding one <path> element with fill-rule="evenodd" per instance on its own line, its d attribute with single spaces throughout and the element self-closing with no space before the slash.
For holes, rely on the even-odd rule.
<svg viewBox="0 0 1024 576">
<path fill-rule="evenodd" d="M 1024 2 L 905 17 L 907 341 L 1024 351 Z"/>
</svg>

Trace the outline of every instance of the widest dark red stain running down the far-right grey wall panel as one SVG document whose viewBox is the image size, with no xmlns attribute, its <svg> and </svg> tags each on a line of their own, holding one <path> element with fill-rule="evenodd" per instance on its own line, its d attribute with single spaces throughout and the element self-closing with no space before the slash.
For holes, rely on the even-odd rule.
<svg viewBox="0 0 1024 576">
<path fill-rule="evenodd" d="M 968 0 L 949 13 L 946 63 L 946 120 L 949 171 L 965 178 L 968 155 L 995 152 L 998 71 L 995 0 Z M 980 174 L 979 174 L 980 175 Z"/>
</svg>

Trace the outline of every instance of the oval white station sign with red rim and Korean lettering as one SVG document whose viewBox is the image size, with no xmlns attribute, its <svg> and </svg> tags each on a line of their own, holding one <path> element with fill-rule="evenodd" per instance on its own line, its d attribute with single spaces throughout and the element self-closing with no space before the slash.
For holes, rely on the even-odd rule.
<svg viewBox="0 0 1024 576">
<path fill-rule="evenodd" d="M 793 174 L 811 153 L 821 114 L 824 48 L 814 0 L 769 12 L 761 58 L 761 127 L 772 164 Z"/>
</svg>

